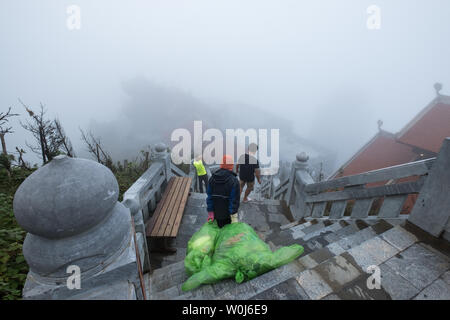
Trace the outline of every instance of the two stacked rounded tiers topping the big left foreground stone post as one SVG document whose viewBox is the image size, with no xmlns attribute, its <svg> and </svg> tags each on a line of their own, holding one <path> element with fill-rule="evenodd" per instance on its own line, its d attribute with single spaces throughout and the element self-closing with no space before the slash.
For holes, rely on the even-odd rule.
<svg viewBox="0 0 450 320">
<path fill-rule="evenodd" d="M 131 239 L 131 221 L 118 197 L 111 170 L 91 160 L 58 156 L 28 176 L 13 201 L 16 220 L 28 231 L 27 288 L 38 278 L 60 283 L 68 265 L 88 276 L 121 252 Z"/>
</svg>

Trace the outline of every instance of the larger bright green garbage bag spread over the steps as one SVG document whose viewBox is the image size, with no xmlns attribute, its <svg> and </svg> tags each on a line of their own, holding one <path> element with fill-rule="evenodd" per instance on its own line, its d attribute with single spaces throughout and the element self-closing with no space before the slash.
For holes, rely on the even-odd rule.
<svg viewBox="0 0 450 320">
<path fill-rule="evenodd" d="M 210 227 L 207 223 L 203 228 Z M 228 224 L 218 231 L 212 258 L 206 259 L 206 263 L 203 262 L 204 259 L 200 270 L 192 274 L 181 288 L 188 291 L 201 284 L 215 283 L 233 277 L 237 283 L 248 281 L 293 261 L 303 253 L 303 250 L 302 246 L 293 244 L 272 252 L 248 224 L 243 222 Z M 188 256 L 189 254 L 188 248 Z"/>
</svg>

